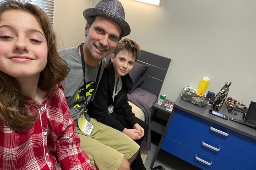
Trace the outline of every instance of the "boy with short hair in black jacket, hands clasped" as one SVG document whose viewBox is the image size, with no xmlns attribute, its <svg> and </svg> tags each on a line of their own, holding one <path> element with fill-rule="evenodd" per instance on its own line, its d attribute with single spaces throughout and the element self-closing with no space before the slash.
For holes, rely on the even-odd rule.
<svg viewBox="0 0 256 170">
<path fill-rule="evenodd" d="M 127 92 L 133 86 L 128 73 L 132 70 L 140 51 L 140 45 L 131 39 L 119 41 L 88 109 L 90 117 L 125 133 L 139 145 L 148 133 L 148 125 L 132 113 Z M 145 169 L 140 153 L 135 160 L 131 165 L 132 169 Z"/>
</svg>

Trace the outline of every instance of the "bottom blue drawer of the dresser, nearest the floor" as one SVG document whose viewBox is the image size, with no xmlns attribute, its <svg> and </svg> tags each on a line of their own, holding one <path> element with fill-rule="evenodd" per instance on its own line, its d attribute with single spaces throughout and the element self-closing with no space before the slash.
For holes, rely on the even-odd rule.
<svg viewBox="0 0 256 170">
<path fill-rule="evenodd" d="M 237 170 L 168 136 L 165 136 L 161 149 L 203 170 Z"/>
</svg>

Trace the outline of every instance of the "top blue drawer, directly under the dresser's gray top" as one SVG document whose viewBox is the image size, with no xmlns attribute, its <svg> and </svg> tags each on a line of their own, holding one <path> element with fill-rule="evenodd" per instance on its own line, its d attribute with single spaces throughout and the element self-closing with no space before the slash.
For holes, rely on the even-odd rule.
<svg viewBox="0 0 256 170">
<path fill-rule="evenodd" d="M 177 108 L 175 109 L 171 122 L 186 127 L 191 131 L 202 134 L 203 136 L 223 143 L 256 158 L 256 140 L 245 135 L 236 133 L 230 129 L 216 125 L 215 123 L 194 116 Z M 226 133 L 227 136 L 219 132 L 215 132 L 218 130 Z"/>
</svg>

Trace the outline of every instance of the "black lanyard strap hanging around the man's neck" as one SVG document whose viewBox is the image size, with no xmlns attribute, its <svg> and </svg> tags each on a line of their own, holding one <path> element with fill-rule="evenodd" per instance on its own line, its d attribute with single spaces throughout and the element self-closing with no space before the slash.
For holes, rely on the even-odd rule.
<svg viewBox="0 0 256 170">
<path fill-rule="evenodd" d="M 86 88 L 86 80 L 85 80 L 85 57 L 84 57 L 84 52 L 83 52 L 83 43 L 81 43 L 81 45 L 79 47 L 80 47 L 80 54 L 81 54 L 81 62 L 82 62 L 83 71 L 84 71 L 84 97 L 85 97 L 85 103 L 86 103 L 86 110 L 85 110 L 85 112 L 87 112 L 88 105 L 87 105 L 87 99 L 86 99 L 87 88 Z M 96 82 L 95 82 L 96 88 L 98 86 L 101 66 L 102 66 L 102 61 L 100 62 L 100 67 L 99 67 L 99 70 L 98 70 L 98 73 L 97 73 L 97 77 L 96 77 Z M 91 102 L 92 97 L 95 94 L 96 88 L 91 93 L 91 99 L 90 99 L 90 101 L 88 101 L 88 104 Z"/>
</svg>

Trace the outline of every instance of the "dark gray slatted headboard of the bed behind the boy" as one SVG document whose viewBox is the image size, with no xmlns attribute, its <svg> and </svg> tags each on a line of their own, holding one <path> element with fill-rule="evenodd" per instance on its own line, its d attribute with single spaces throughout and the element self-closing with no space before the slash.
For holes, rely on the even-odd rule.
<svg viewBox="0 0 256 170">
<path fill-rule="evenodd" d="M 110 55 L 106 57 L 107 61 L 109 60 Z M 140 88 L 151 92 L 158 97 L 171 59 L 141 50 L 140 57 L 136 62 L 149 66 L 142 76 L 145 82 L 142 83 Z"/>
</svg>

